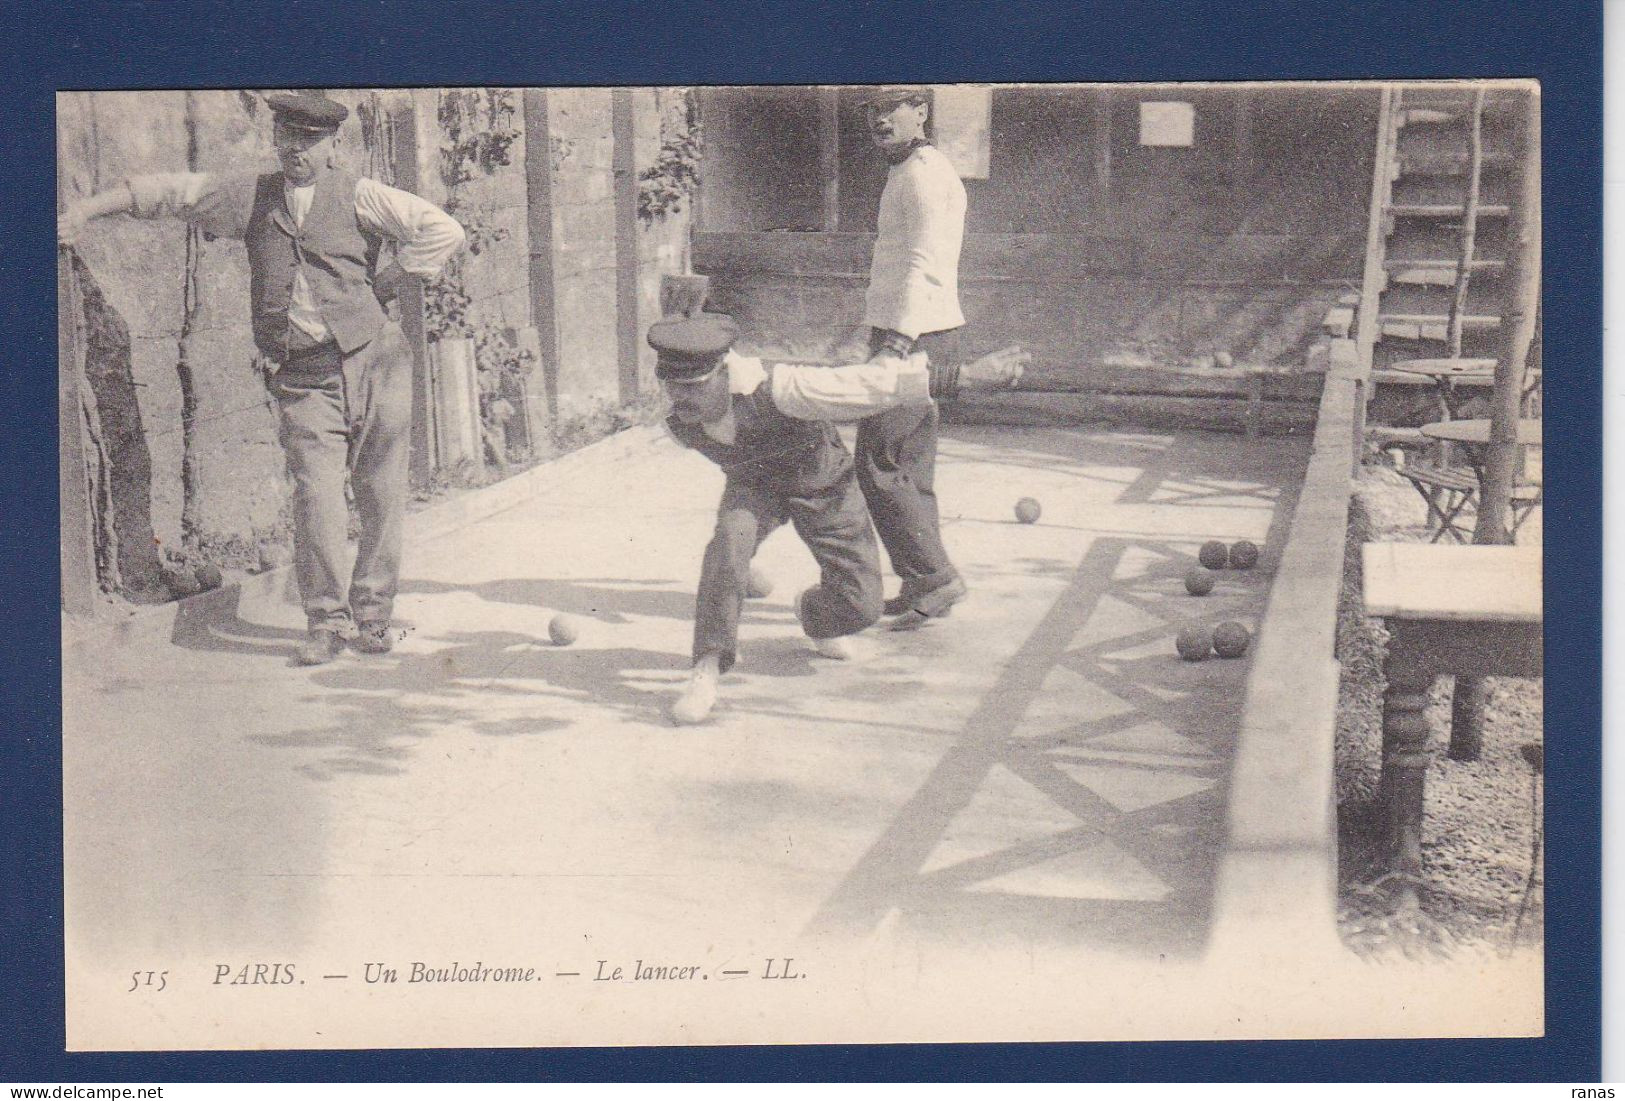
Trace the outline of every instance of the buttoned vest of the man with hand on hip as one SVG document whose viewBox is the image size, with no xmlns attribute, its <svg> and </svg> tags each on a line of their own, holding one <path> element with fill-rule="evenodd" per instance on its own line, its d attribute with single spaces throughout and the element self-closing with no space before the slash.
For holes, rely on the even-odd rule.
<svg viewBox="0 0 1625 1101">
<path fill-rule="evenodd" d="M 283 200 L 281 172 L 262 175 L 244 244 L 249 247 L 254 343 L 271 359 L 284 362 L 315 343 L 288 322 L 299 270 L 340 351 L 349 354 L 362 348 L 384 326 L 384 307 L 372 294 L 382 239 L 356 222 L 353 175 L 328 172 L 318 177 L 310 213 L 299 227 Z"/>
</svg>

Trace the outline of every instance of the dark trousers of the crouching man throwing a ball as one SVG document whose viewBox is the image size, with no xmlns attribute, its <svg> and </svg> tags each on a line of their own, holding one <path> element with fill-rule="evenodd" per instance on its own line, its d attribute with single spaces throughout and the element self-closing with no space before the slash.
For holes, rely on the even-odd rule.
<svg viewBox="0 0 1625 1101">
<path fill-rule="evenodd" d="M 694 659 L 713 653 L 726 672 L 739 648 L 739 609 L 751 559 L 788 520 L 819 565 L 819 583 L 803 604 L 811 638 L 838 638 L 881 617 L 881 555 L 869 513 L 853 477 L 817 497 L 790 497 L 728 479 L 717 507 L 717 531 L 705 547 L 694 611 Z"/>
</svg>

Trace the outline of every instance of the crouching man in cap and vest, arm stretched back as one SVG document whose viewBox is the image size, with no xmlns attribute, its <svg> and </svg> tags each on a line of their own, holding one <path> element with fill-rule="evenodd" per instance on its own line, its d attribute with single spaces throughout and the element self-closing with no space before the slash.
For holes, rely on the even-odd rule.
<svg viewBox="0 0 1625 1101">
<path fill-rule="evenodd" d="M 736 335 L 722 313 L 671 317 L 648 330 L 655 373 L 671 399 L 666 427 L 728 477 L 700 568 L 694 666 L 671 708 L 678 723 L 710 715 L 717 680 L 734 663 L 751 559 L 786 520 L 819 563 L 819 583 L 796 598 L 816 650 L 847 658 L 845 637 L 881 617 L 874 533 L 832 422 L 925 409 L 962 385 L 998 388 L 1022 370 L 1009 357 L 964 367 L 930 365 L 923 356 L 848 367 L 764 365 L 731 351 Z"/>
</svg>

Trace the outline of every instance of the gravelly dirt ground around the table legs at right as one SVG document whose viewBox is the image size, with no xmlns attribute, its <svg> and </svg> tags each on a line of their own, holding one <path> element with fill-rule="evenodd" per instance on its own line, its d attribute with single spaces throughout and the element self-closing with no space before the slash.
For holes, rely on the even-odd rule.
<svg viewBox="0 0 1625 1101">
<path fill-rule="evenodd" d="M 1542 939 L 1540 680 L 1490 679 L 1484 755 L 1466 763 L 1443 753 L 1453 680 L 1438 679 L 1427 713 L 1436 757 L 1427 775 L 1420 909 L 1396 909 L 1393 885 L 1373 869 L 1381 663 L 1388 637 L 1380 620 L 1362 612 L 1360 546 L 1370 541 L 1424 542 L 1424 518 L 1422 499 L 1394 469 L 1363 468 L 1349 515 L 1337 625 L 1342 661 L 1337 825 L 1339 932 L 1354 952 L 1368 958 L 1450 958 L 1539 945 Z M 1540 516 L 1536 513 L 1518 541 L 1539 539 Z"/>
</svg>

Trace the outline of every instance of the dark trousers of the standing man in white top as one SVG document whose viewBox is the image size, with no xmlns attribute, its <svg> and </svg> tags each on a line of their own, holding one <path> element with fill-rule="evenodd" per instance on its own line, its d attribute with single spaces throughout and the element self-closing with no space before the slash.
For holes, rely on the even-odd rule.
<svg viewBox="0 0 1625 1101">
<path fill-rule="evenodd" d="M 915 351 L 933 364 L 959 361 L 960 330 L 921 333 Z M 871 330 L 869 356 L 881 351 L 884 330 Z M 905 594 L 930 593 L 959 576 L 942 547 L 936 505 L 936 437 L 939 414 L 930 406 L 899 406 L 858 422 L 858 486 L 874 518 L 892 572 Z"/>
</svg>

